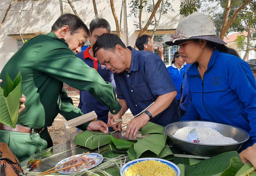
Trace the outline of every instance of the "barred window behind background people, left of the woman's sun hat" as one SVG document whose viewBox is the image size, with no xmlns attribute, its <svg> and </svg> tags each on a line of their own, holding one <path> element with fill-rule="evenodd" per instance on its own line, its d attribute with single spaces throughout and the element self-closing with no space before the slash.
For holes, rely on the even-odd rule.
<svg viewBox="0 0 256 176">
<path fill-rule="evenodd" d="M 165 34 L 165 35 L 155 35 L 154 36 L 154 44 L 156 43 L 161 43 L 163 45 L 163 58 L 164 58 L 164 63 L 165 65 L 170 65 L 170 63 L 173 60 L 173 55 L 176 51 L 179 50 L 178 46 L 168 46 L 164 42 L 170 40 L 170 35 Z M 154 53 L 159 54 L 157 51 L 157 48 L 155 48 Z"/>
</svg>

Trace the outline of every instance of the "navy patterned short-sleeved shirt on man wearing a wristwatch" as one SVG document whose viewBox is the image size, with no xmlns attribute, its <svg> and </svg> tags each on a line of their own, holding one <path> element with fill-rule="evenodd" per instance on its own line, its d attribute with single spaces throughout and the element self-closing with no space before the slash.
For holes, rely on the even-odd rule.
<svg viewBox="0 0 256 176">
<path fill-rule="evenodd" d="M 135 116 L 156 101 L 159 95 L 177 91 L 172 77 L 161 58 L 150 51 L 137 51 L 132 47 L 129 72 L 114 74 L 117 98 L 125 100 Z M 173 102 L 151 122 L 166 126 L 180 120 L 178 102 Z"/>
</svg>

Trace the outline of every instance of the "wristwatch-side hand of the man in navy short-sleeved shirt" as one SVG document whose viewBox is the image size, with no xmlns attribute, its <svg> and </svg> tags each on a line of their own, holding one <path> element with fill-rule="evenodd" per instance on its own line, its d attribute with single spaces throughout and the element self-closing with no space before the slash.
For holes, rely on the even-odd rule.
<svg viewBox="0 0 256 176">
<path fill-rule="evenodd" d="M 150 117 L 148 117 L 148 115 L 145 113 L 142 113 L 142 115 L 132 119 L 126 127 L 126 137 L 130 136 L 131 138 L 136 135 L 139 129 L 145 126 L 149 120 Z"/>
</svg>

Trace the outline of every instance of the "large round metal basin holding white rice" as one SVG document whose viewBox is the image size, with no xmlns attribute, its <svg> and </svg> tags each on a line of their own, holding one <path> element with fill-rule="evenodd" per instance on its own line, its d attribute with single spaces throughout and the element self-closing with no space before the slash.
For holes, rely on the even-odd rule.
<svg viewBox="0 0 256 176">
<path fill-rule="evenodd" d="M 178 129 L 185 126 L 210 127 L 219 131 L 220 134 L 225 137 L 233 138 L 234 140 L 238 141 L 238 143 L 225 145 L 195 144 L 173 137 Z M 169 136 L 169 139 L 172 141 L 173 145 L 180 151 L 188 155 L 197 155 L 201 157 L 212 157 L 227 151 L 237 151 L 240 149 L 243 143 L 249 139 L 249 134 L 244 129 L 236 126 L 207 121 L 175 122 L 165 126 L 164 130 L 165 133 Z"/>
</svg>

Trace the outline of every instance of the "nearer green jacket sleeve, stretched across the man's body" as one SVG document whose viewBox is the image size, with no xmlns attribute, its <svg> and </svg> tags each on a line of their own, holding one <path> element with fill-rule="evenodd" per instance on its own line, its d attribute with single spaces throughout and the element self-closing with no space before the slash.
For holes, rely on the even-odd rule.
<svg viewBox="0 0 256 176">
<path fill-rule="evenodd" d="M 89 91 L 108 107 L 112 114 L 120 111 L 121 106 L 117 101 L 113 85 L 105 82 L 95 69 L 77 58 L 65 43 L 54 40 L 42 45 L 35 65 L 38 71 L 47 73 L 78 90 Z"/>
</svg>

